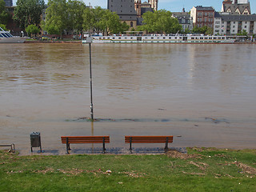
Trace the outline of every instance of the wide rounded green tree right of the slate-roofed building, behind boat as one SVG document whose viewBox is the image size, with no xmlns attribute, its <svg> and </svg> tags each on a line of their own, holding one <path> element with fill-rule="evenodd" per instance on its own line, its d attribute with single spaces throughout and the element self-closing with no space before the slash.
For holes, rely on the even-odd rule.
<svg viewBox="0 0 256 192">
<path fill-rule="evenodd" d="M 142 15 L 143 26 L 138 30 L 145 30 L 149 33 L 166 33 L 175 34 L 182 31 L 182 26 L 178 23 L 177 18 L 172 18 L 172 13 L 168 10 L 157 10 L 146 12 Z"/>
</svg>

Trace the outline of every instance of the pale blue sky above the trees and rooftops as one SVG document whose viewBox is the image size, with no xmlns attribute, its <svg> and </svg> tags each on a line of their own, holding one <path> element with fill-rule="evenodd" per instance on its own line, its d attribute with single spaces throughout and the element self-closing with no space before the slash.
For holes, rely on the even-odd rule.
<svg viewBox="0 0 256 192">
<path fill-rule="evenodd" d="M 16 4 L 16 0 L 14 5 Z M 82 0 L 86 3 L 86 6 L 101 6 L 106 8 L 107 0 Z M 186 11 L 190 11 L 193 6 L 213 6 L 216 11 L 222 10 L 223 0 L 158 0 L 158 10 L 170 10 L 171 12 L 181 12 L 184 7 Z M 47 2 L 47 0 L 45 0 Z M 147 2 L 147 0 L 142 0 Z M 256 0 L 250 0 L 251 13 L 256 13 Z"/>
</svg>

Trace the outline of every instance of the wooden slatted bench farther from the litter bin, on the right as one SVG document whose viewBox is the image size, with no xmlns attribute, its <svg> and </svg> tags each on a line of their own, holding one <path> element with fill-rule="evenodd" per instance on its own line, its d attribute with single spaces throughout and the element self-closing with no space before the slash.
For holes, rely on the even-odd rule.
<svg viewBox="0 0 256 192">
<path fill-rule="evenodd" d="M 165 151 L 167 151 L 168 143 L 173 140 L 174 136 L 125 136 L 125 143 L 130 143 L 130 153 L 132 153 L 131 143 L 166 143 Z"/>
</svg>

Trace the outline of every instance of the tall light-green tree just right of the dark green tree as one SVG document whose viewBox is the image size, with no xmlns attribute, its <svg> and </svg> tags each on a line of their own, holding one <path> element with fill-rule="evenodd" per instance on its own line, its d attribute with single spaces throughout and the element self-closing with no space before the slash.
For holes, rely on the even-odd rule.
<svg viewBox="0 0 256 192">
<path fill-rule="evenodd" d="M 42 22 L 42 27 L 48 33 L 56 32 L 62 38 L 63 30 L 67 29 L 67 6 L 66 0 L 49 0 L 46 9 L 46 20 Z"/>
</svg>

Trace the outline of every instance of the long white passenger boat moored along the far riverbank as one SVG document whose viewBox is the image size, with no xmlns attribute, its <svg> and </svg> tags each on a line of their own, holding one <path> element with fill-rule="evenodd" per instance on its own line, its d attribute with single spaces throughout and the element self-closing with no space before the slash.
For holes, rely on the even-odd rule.
<svg viewBox="0 0 256 192">
<path fill-rule="evenodd" d="M 112 36 L 93 36 L 94 43 L 233 43 L 234 39 L 227 39 L 226 36 L 214 35 L 112 35 Z M 86 39 L 82 40 L 86 43 Z"/>
</svg>

